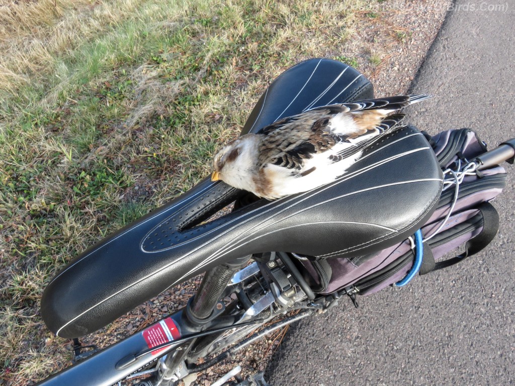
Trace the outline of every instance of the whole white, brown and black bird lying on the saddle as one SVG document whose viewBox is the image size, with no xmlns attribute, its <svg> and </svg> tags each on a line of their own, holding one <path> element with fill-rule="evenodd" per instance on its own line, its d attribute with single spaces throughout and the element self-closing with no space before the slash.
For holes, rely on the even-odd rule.
<svg viewBox="0 0 515 386">
<path fill-rule="evenodd" d="M 365 146 L 404 117 L 388 114 L 429 98 L 423 94 L 367 99 L 282 118 L 218 151 L 211 180 L 268 200 L 328 184 L 361 157 Z"/>
</svg>

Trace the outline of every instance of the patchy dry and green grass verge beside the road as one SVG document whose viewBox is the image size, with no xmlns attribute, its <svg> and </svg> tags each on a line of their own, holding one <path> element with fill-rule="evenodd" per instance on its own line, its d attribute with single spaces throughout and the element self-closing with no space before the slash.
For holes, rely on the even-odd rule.
<svg viewBox="0 0 515 386">
<path fill-rule="evenodd" d="M 408 39 L 396 27 L 381 41 L 362 38 L 381 23 L 381 12 L 371 14 L 378 7 L 0 0 L 0 383 L 24 385 L 69 363 L 67 342 L 39 316 L 45 284 L 96 240 L 206 176 L 218 144 L 238 134 L 274 77 L 321 56 L 377 71 L 385 41 Z M 86 342 L 152 323 L 184 305 L 197 282 Z"/>
</svg>

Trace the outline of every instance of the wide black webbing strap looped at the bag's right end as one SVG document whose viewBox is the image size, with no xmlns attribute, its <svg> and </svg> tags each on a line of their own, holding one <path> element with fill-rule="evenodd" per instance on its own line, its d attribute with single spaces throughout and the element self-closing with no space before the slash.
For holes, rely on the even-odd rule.
<svg viewBox="0 0 515 386">
<path fill-rule="evenodd" d="M 483 202 L 477 208 L 483 216 L 483 230 L 478 235 L 467 241 L 464 253 L 447 260 L 436 262 L 435 268 L 433 269 L 434 271 L 453 266 L 461 260 L 476 254 L 493 240 L 497 231 L 499 231 L 499 213 L 497 213 L 497 210 L 495 210 L 493 205 L 489 202 Z"/>
</svg>

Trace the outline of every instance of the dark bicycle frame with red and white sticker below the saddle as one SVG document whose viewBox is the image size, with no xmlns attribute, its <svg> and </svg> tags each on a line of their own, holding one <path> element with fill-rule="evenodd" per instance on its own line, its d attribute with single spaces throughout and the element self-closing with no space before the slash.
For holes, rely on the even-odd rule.
<svg viewBox="0 0 515 386">
<path fill-rule="evenodd" d="M 78 361 L 60 373 L 37 383 L 37 385 L 57 386 L 73 384 L 86 386 L 95 384 L 98 386 L 111 386 L 124 379 L 148 373 L 155 373 L 158 379 L 157 384 L 165 384 L 162 382 L 176 381 L 188 373 L 207 368 L 205 364 L 202 366 L 202 369 L 193 370 L 186 369 L 184 366 L 184 359 L 190 353 L 197 339 L 238 327 L 259 327 L 271 319 L 255 320 L 253 318 L 255 315 L 251 315 L 251 318 L 247 318 L 250 321 L 241 321 L 242 317 L 239 313 L 236 315 L 224 315 L 226 307 L 223 302 L 219 301 L 219 298 L 228 288 L 228 285 L 229 288 L 233 287 L 235 289 L 237 285 L 244 283 L 249 277 L 261 273 L 255 262 L 246 270 L 238 272 L 238 269 L 242 268 L 249 258 L 250 256 L 246 256 L 233 261 L 232 268 L 230 269 L 232 274 L 229 276 L 226 272 L 226 266 L 219 266 L 208 271 L 202 279 L 197 296 L 199 293 L 212 293 L 211 296 L 198 296 L 197 301 L 193 297 L 185 307 L 175 313 L 122 341 L 100 350 L 88 358 Z M 284 266 L 282 269 L 286 270 L 287 268 Z M 273 288 L 273 283 L 268 284 Z M 237 293 L 240 299 L 244 299 L 244 296 L 247 296 L 242 291 L 237 291 Z M 268 294 L 270 293 L 268 292 Z M 300 288 L 297 293 L 299 294 L 297 301 L 305 298 Z M 276 296 L 282 296 L 282 293 L 277 293 Z M 216 302 L 213 299 L 216 299 Z M 270 303 L 276 300 L 274 296 L 270 295 L 268 297 L 265 295 L 262 299 L 271 299 L 272 302 Z M 194 310 L 207 316 L 199 319 L 194 315 Z M 259 311 L 261 310 L 258 309 L 255 313 L 257 314 Z M 297 315 L 297 317 L 289 319 L 285 318 L 286 322 L 281 321 L 283 323 L 274 325 L 272 328 L 269 327 L 265 333 L 306 316 L 308 314 Z M 258 337 L 248 340 L 245 345 L 264 334 L 258 335 Z M 215 357 L 215 360 L 212 360 L 209 364 L 214 365 L 226 357 L 224 355 L 222 357 Z M 156 363 L 155 369 L 144 370 L 153 363 Z"/>
</svg>

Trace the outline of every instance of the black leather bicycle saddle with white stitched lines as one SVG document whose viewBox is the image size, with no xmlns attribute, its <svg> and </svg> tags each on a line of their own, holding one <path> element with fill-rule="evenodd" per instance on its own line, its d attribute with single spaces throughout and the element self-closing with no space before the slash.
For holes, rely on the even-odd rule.
<svg viewBox="0 0 515 386">
<path fill-rule="evenodd" d="M 243 133 L 312 107 L 372 97 L 372 84 L 354 68 L 307 60 L 268 87 Z M 236 257 L 267 251 L 314 258 L 373 253 L 412 235 L 431 216 L 441 184 L 431 146 L 409 126 L 369 146 L 334 183 L 276 201 L 257 200 L 202 223 L 246 195 L 206 178 L 74 259 L 45 289 L 41 313 L 50 330 L 73 338 Z"/>
</svg>

